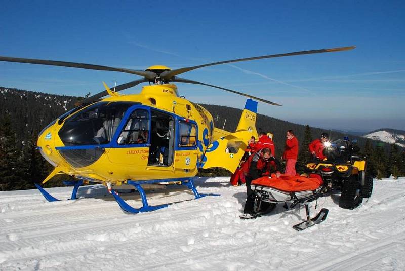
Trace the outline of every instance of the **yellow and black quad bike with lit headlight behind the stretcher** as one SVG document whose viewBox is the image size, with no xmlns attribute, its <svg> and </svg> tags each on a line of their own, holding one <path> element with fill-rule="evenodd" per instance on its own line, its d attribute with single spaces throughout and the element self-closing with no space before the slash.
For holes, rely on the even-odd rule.
<svg viewBox="0 0 405 271">
<path fill-rule="evenodd" d="M 327 159 L 314 159 L 305 167 L 307 173 L 322 177 L 325 191 L 341 191 L 339 207 L 344 209 L 356 208 L 373 192 L 373 177 L 366 174 L 366 160 L 356 154 L 360 150 L 356 142 L 348 137 L 326 142 L 323 152 Z"/>
</svg>

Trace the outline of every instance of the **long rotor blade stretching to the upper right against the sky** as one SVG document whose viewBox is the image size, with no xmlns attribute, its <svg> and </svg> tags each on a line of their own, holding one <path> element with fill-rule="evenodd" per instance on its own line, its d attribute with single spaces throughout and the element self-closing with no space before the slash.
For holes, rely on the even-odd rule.
<svg viewBox="0 0 405 271">
<path fill-rule="evenodd" d="M 308 54 L 318 54 L 318 53 L 328 53 L 328 52 L 339 52 L 339 51 L 346 51 L 346 50 L 352 50 L 356 48 L 355 46 L 349 46 L 349 47 L 339 47 L 339 48 L 331 48 L 331 49 L 319 49 L 319 50 L 310 50 L 310 51 L 299 51 L 299 52 L 292 52 L 292 53 L 286 53 L 286 54 L 275 54 L 275 55 L 267 55 L 267 56 L 257 56 L 257 57 L 248 57 L 248 58 L 239 58 L 239 59 L 233 59 L 233 60 L 227 60 L 227 61 L 220 61 L 220 62 L 214 62 L 214 63 L 208 63 L 204 65 L 198 65 L 198 66 L 193 66 L 193 67 L 186 67 L 186 68 L 180 68 L 180 69 L 174 69 L 170 71 L 164 71 L 160 74 L 160 77 L 165 79 L 165 80 L 171 80 L 173 76 L 179 75 L 181 73 L 202 68 L 202 67 L 207 67 L 207 66 L 214 66 L 214 65 L 219 65 L 219 64 L 225 64 L 225 63 L 233 63 L 233 62 L 240 62 L 240 61 L 248 61 L 248 60 L 256 60 L 256 59 L 263 59 L 263 58 L 273 58 L 273 57 L 283 57 L 283 56 L 296 56 L 296 55 L 308 55 Z"/>
</svg>

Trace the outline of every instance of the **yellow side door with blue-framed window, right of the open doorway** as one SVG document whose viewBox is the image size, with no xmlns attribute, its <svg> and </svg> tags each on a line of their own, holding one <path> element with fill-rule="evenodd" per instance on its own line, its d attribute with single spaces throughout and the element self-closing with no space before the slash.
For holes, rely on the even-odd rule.
<svg viewBox="0 0 405 271">
<path fill-rule="evenodd" d="M 175 169 L 196 170 L 198 126 L 195 121 L 178 118 L 176 122 Z"/>
</svg>

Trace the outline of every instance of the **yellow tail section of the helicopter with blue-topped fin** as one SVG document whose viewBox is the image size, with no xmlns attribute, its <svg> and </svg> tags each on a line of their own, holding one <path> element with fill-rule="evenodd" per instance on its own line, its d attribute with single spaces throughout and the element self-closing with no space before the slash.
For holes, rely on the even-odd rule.
<svg viewBox="0 0 405 271">
<path fill-rule="evenodd" d="M 226 132 L 212 142 L 201 159 L 201 168 L 220 167 L 234 172 L 245 154 L 248 140 L 256 131 L 257 102 L 246 101 L 245 109 L 234 133 Z M 225 131 L 224 131 L 225 132 Z"/>
</svg>

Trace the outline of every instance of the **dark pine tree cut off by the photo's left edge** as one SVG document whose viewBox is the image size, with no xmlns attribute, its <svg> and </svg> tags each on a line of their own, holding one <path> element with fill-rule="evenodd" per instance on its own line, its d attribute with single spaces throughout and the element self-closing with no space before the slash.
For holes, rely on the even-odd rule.
<svg viewBox="0 0 405 271">
<path fill-rule="evenodd" d="M 8 115 L 0 123 L 0 191 L 13 190 L 21 175 L 20 152 Z"/>
</svg>

